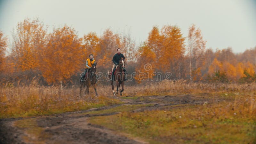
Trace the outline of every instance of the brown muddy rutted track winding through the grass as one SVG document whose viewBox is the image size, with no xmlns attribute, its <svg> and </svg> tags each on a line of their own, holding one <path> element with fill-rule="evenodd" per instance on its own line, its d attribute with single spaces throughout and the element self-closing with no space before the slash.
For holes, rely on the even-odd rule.
<svg viewBox="0 0 256 144">
<path fill-rule="evenodd" d="M 116 97 L 124 104 L 112 105 L 101 108 L 93 108 L 85 111 L 68 112 L 51 116 L 37 116 L 37 126 L 42 128 L 39 137 L 35 137 L 27 132 L 26 128 L 14 126 L 14 123 L 23 118 L 7 118 L 0 120 L 0 143 L 61 143 L 61 144 L 89 144 L 89 143 L 146 143 L 143 140 L 127 137 L 126 134 L 116 133 L 107 128 L 93 125 L 87 122 L 90 116 L 106 116 L 117 114 L 84 114 L 86 112 L 105 110 L 122 105 L 150 104 L 145 107 L 132 110 L 134 112 L 155 109 L 170 109 L 172 106 L 188 106 L 204 103 L 223 101 L 223 98 L 209 99 L 207 95 L 176 95 L 176 96 L 142 96 L 142 97 Z"/>
</svg>

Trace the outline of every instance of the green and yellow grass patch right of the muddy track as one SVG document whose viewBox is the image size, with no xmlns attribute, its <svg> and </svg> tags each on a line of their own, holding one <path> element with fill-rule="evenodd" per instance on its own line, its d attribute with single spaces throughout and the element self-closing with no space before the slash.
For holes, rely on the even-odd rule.
<svg viewBox="0 0 256 144">
<path fill-rule="evenodd" d="M 89 121 L 140 137 L 149 143 L 255 143 L 255 104 L 244 96 L 236 103 L 122 112 L 90 117 Z"/>
</svg>

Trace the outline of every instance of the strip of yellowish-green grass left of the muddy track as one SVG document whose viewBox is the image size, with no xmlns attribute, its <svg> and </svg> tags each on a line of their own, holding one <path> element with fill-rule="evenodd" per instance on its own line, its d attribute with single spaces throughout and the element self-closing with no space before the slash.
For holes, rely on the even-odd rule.
<svg viewBox="0 0 256 144">
<path fill-rule="evenodd" d="M 3 100 L 0 100 L 0 102 Z M 99 108 L 114 104 L 123 104 L 120 100 L 108 97 L 97 97 L 93 101 L 78 99 L 68 100 L 68 97 L 58 99 L 58 97 L 40 99 L 38 96 L 28 96 L 27 99 L 12 101 L 4 101 L 0 105 L 0 118 L 8 117 L 28 117 L 52 115 L 64 112 L 72 112 L 78 110 L 87 110 L 90 108 Z"/>
</svg>

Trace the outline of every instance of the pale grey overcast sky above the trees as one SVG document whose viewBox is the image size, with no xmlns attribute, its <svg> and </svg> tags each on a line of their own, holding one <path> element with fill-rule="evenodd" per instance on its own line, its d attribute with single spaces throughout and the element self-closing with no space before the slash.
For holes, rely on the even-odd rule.
<svg viewBox="0 0 256 144">
<path fill-rule="evenodd" d="M 187 37 L 194 23 L 206 48 L 232 47 L 237 53 L 256 46 L 256 0 L 0 0 L 0 30 L 10 40 L 12 29 L 25 18 L 39 18 L 49 25 L 48 32 L 67 24 L 79 36 L 99 36 L 110 28 L 130 33 L 137 44 L 153 26 L 177 25 Z"/>
</svg>

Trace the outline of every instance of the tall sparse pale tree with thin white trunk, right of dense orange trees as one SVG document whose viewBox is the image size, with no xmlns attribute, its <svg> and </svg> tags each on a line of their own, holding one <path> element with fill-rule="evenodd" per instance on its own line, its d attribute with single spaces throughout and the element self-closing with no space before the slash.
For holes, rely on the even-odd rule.
<svg viewBox="0 0 256 144">
<path fill-rule="evenodd" d="M 196 29 L 193 24 L 188 28 L 188 57 L 189 57 L 189 77 L 190 82 L 192 82 L 195 75 L 198 76 L 200 71 L 200 62 L 202 61 L 203 53 L 205 52 L 206 41 L 203 40 L 201 35 L 201 30 Z M 193 74 L 194 73 L 194 74 Z"/>
</svg>

